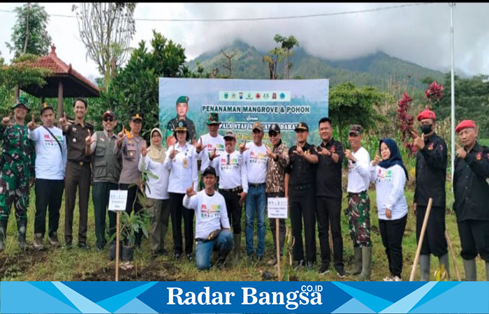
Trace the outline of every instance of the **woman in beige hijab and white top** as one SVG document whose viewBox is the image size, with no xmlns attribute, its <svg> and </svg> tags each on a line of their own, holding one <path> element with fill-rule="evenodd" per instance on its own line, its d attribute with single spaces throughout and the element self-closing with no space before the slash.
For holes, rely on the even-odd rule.
<svg viewBox="0 0 489 314">
<path fill-rule="evenodd" d="M 161 146 L 162 133 L 159 128 L 151 130 L 151 145 L 148 149 L 141 148 L 138 170 L 149 170 L 157 178 L 148 177 L 145 193 L 149 205 L 149 238 L 151 240 L 152 256 L 166 255 L 165 235 L 168 230 L 168 177 L 170 172 L 163 167 L 165 161 L 165 149 Z M 144 165 L 143 165 L 144 163 Z"/>
</svg>

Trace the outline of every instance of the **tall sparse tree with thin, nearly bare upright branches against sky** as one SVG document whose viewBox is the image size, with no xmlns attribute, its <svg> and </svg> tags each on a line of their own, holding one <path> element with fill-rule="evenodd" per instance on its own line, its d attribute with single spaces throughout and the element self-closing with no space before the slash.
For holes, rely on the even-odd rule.
<svg viewBox="0 0 489 314">
<path fill-rule="evenodd" d="M 129 44 L 136 33 L 133 19 L 136 3 L 80 3 L 72 7 L 87 57 L 95 61 L 105 86 L 129 56 Z"/>
</svg>

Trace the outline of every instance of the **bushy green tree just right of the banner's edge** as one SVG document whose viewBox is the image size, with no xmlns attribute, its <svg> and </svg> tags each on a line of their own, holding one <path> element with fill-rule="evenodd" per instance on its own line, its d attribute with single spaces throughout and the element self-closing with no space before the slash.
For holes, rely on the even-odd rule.
<svg viewBox="0 0 489 314">
<path fill-rule="evenodd" d="M 352 82 L 339 84 L 330 89 L 329 115 L 340 129 L 343 142 L 344 128 L 349 124 L 360 124 L 368 129 L 382 117 L 374 109 L 379 103 L 388 99 L 388 95 L 374 87 L 356 87 Z"/>
</svg>

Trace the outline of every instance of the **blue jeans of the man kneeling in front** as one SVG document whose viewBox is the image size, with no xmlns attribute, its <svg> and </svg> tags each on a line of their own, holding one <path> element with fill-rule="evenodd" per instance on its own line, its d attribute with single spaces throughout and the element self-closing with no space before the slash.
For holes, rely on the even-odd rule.
<svg viewBox="0 0 489 314">
<path fill-rule="evenodd" d="M 226 256 L 233 248 L 233 234 L 230 230 L 222 230 L 217 239 L 212 241 L 199 241 L 196 244 L 196 264 L 197 269 L 210 268 L 210 254 L 218 251 L 219 255 Z"/>
</svg>

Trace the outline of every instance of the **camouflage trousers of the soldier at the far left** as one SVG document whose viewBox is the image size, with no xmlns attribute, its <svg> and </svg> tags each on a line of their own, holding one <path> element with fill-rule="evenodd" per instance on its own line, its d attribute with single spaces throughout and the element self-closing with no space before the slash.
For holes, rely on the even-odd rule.
<svg viewBox="0 0 489 314">
<path fill-rule="evenodd" d="M 12 203 L 17 220 L 27 219 L 29 207 L 29 167 L 5 163 L 0 173 L 0 220 L 8 220 Z"/>
</svg>

